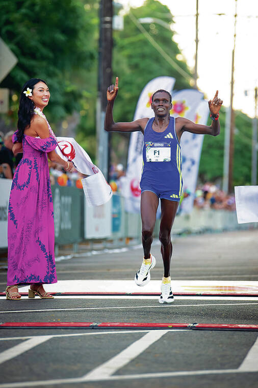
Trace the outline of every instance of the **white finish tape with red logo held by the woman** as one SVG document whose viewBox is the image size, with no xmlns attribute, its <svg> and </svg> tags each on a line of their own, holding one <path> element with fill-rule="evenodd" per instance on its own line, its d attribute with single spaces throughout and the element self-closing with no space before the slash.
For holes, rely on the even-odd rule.
<svg viewBox="0 0 258 388">
<path fill-rule="evenodd" d="M 89 175 L 82 179 L 84 194 L 89 206 L 99 206 L 108 202 L 113 191 L 100 169 L 92 163 L 87 152 L 72 137 L 57 137 L 56 153 L 64 160 L 73 162 L 77 171 Z"/>
</svg>

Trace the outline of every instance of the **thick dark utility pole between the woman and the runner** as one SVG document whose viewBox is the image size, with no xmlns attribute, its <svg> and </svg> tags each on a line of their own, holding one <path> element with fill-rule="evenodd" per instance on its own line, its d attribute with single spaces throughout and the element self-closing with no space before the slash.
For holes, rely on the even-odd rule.
<svg viewBox="0 0 258 388">
<path fill-rule="evenodd" d="M 112 0 L 99 2 L 98 94 L 96 104 L 97 160 L 105 178 L 109 175 L 110 136 L 104 131 L 107 88 L 112 81 Z"/>
</svg>

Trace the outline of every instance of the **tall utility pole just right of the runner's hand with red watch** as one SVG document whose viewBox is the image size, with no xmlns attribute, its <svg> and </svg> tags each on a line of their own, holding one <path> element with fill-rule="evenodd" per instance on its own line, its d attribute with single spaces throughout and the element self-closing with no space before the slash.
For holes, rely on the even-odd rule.
<svg viewBox="0 0 258 388">
<path fill-rule="evenodd" d="M 229 167 L 228 167 L 228 188 L 227 191 L 233 190 L 233 163 L 234 163 L 234 129 L 235 129 L 235 115 L 233 110 L 233 96 L 234 96 L 234 60 L 236 48 L 236 26 L 237 26 L 237 1 L 235 0 L 235 22 L 234 22 L 234 46 L 232 51 L 232 66 L 231 66 L 231 89 L 230 89 L 230 141 L 229 141 Z"/>
</svg>

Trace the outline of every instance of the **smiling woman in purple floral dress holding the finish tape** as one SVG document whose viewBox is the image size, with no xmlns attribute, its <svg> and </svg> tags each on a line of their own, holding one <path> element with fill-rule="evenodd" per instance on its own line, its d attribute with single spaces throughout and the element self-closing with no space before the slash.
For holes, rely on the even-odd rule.
<svg viewBox="0 0 258 388">
<path fill-rule="evenodd" d="M 13 177 L 8 210 L 6 299 L 19 300 L 19 285 L 30 284 L 29 298 L 52 299 L 43 284 L 57 282 L 54 212 L 47 157 L 71 171 L 73 164 L 55 152 L 57 140 L 43 109 L 50 93 L 33 78 L 22 88 L 13 153 L 23 152 Z"/>
</svg>

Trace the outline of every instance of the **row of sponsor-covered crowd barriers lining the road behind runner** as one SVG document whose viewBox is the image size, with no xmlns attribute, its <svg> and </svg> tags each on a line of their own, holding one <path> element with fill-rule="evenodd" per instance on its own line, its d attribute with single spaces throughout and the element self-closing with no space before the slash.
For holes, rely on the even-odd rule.
<svg viewBox="0 0 258 388">
<path fill-rule="evenodd" d="M 0 248 L 7 248 L 8 199 L 12 181 L 0 179 Z M 89 207 L 84 192 L 76 187 L 51 187 L 54 204 L 55 243 L 78 244 L 85 240 L 141 240 L 140 214 L 124 210 L 124 198 L 114 193 L 105 205 Z M 157 220 L 154 237 L 159 237 Z M 235 211 L 193 209 L 191 214 L 177 215 L 173 234 L 220 232 L 257 228 L 258 223 L 238 224 Z"/>
</svg>

